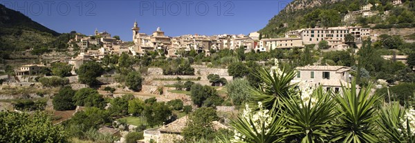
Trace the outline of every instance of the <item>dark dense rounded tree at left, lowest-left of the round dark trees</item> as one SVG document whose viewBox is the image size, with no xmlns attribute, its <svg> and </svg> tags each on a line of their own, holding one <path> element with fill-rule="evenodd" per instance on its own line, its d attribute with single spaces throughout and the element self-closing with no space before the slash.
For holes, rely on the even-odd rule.
<svg viewBox="0 0 415 143">
<path fill-rule="evenodd" d="M 75 109 L 76 106 L 72 99 L 73 96 L 75 96 L 75 91 L 71 87 L 66 86 L 59 89 L 59 92 L 53 96 L 53 109 L 57 111 Z"/>
</svg>

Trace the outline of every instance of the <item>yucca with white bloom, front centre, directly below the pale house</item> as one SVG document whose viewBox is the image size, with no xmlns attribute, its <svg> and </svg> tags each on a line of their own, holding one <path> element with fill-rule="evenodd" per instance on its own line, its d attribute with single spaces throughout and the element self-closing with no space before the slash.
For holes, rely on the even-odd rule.
<svg viewBox="0 0 415 143">
<path fill-rule="evenodd" d="M 337 116 L 331 92 L 318 87 L 311 95 L 300 96 L 302 97 L 283 98 L 288 120 L 284 136 L 295 136 L 302 142 L 326 142 L 331 137 L 327 129 Z"/>
</svg>

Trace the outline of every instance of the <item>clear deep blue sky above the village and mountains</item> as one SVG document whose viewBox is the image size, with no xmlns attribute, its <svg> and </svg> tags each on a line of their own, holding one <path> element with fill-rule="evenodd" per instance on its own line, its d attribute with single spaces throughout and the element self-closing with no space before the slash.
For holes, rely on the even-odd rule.
<svg viewBox="0 0 415 143">
<path fill-rule="evenodd" d="M 0 0 L 56 32 L 91 35 L 95 28 L 132 41 L 134 21 L 141 33 L 158 27 L 166 36 L 249 34 L 261 30 L 291 0 Z"/>
</svg>

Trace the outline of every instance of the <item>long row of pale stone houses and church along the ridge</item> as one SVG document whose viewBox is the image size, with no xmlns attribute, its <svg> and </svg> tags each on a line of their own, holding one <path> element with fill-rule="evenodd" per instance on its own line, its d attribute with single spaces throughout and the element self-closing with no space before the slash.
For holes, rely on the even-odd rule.
<svg viewBox="0 0 415 143">
<path fill-rule="evenodd" d="M 126 43 L 111 38 L 108 32 L 95 30 L 94 36 L 82 36 L 77 34 L 70 43 L 77 43 L 85 52 L 71 59 L 72 63 L 88 60 L 88 58 L 101 59 L 106 54 L 128 53 L 133 56 L 142 56 L 147 52 L 157 51 L 167 57 L 179 57 L 184 52 L 196 51 L 210 56 L 211 50 L 236 50 L 243 47 L 245 52 L 269 52 L 275 49 L 302 48 L 305 45 L 317 44 L 320 41 L 328 41 L 331 50 L 345 50 L 349 45 L 345 44 L 347 34 L 354 36 L 355 41 L 362 41 L 371 36 L 370 28 L 362 27 L 333 27 L 333 28 L 307 28 L 292 30 L 285 33 L 282 38 L 261 39 L 258 32 L 244 34 L 220 34 L 205 36 L 199 34 L 187 34 L 183 36 L 166 36 L 161 28 L 157 28 L 152 34 L 140 33 L 137 21 L 133 23 L 131 43 Z M 95 49 L 89 49 L 94 45 Z"/>
</svg>

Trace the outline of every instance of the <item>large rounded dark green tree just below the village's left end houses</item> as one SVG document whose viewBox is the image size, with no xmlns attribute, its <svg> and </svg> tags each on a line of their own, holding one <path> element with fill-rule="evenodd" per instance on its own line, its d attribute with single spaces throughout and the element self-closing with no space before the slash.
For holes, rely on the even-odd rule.
<svg viewBox="0 0 415 143">
<path fill-rule="evenodd" d="M 76 70 L 78 80 L 80 83 L 84 83 L 86 85 L 94 85 L 95 83 L 98 83 L 96 78 L 101 76 L 102 72 L 103 69 L 100 64 L 95 62 L 84 63 L 79 69 Z"/>
</svg>

